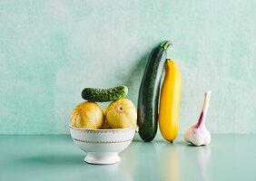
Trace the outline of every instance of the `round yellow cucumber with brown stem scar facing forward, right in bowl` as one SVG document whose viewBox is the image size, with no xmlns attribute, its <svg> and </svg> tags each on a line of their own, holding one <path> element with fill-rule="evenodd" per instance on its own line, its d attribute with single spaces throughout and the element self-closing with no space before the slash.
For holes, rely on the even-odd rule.
<svg viewBox="0 0 256 181">
<path fill-rule="evenodd" d="M 137 121 L 137 112 L 131 100 L 113 101 L 106 110 L 107 123 L 112 129 L 133 127 Z"/>
</svg>

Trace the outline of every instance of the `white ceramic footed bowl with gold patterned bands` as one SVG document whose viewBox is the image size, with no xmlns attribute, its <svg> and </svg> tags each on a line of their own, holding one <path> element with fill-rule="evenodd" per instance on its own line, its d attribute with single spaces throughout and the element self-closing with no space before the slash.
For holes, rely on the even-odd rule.
<svg viewBox="0 0 256 181">
<path fill-rule="evenodd" d="M 118 153 L 133 140 L 136 125 L 127 129 L 80 129 L 70 127 L 74 144 L 87 153 L 84 161 L 91 164 L 113 164 L 121 160 Z"/>
</svg>

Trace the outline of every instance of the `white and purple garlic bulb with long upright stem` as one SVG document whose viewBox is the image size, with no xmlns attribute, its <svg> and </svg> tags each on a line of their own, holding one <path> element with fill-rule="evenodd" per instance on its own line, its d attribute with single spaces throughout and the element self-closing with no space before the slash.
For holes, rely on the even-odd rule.
<svg viewBox="0 0 256 181">
<path fill-rule="evenodd" d="M 206 118 L 207 110 L 209 107 L 209 101 L 211 97 L 211 90 L 205 93 L 205 98 L 202 106 L 202 112 L 198 122 L 187 129 L 184 133 L 185 141 L 192 143 L 195 146 L 208 145 L 211 142 L 211 134 L 205 128 L 204 120 Z"/>
</svg>

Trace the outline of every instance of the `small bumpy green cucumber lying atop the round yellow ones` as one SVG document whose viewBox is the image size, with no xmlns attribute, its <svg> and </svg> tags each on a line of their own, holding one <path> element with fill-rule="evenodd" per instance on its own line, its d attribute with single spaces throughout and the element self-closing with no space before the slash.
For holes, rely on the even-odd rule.
<svg viewBox="0 0 256 181">
<path fill-rule="evenodd" d="M 128 88 L 124 85 L 110 88 L 110 89 L 94 89 L 85 88 L 82 91 L 82 98 L 84 100 L 93 102 L 107 102 L 113 100 L 120 100 L 128 94 Z"/>
</svg>

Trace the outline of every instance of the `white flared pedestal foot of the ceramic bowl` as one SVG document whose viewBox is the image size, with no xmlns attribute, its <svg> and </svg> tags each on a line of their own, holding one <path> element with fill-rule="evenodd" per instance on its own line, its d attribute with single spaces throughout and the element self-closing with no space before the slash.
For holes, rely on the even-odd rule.
<svg viewBox="0 0 256 181">
<path fill-rule="evenodd" d="M 90 164 L 114 164 L 120 162 L 118 152 L 87 152 L 84 161 Z"/>
</svg>

